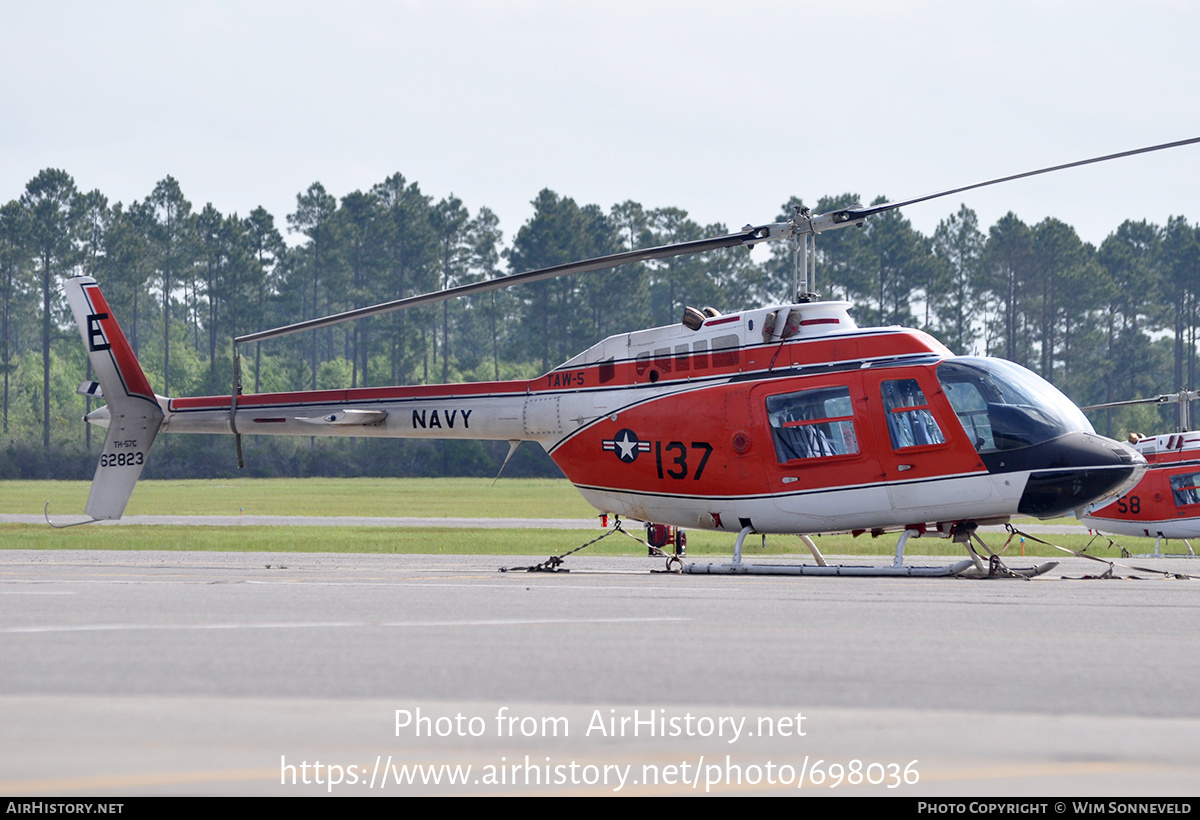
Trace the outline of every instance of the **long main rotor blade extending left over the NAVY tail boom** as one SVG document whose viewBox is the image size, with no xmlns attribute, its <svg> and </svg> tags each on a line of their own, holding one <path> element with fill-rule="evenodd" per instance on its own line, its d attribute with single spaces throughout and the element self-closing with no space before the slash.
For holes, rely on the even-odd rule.
<svg viewBox="0 0 1200 820">
<path fill-rule="evenodd" d="M 536 270 L 527 270 L 523 274 L 512 274 L 511 276 L 498 276 L 497 279 L 488 279 L 482 282 L 472 282 L 470 285 L 458 285 L 452 288 L 446 288 L 445 291 L 434 291 L 433 293 L 422 293 L 415 297 L 406 297 L 403 299 L 385 301 L 379 305 L 371 305 L 368 307 L 358 307 L 355 310 L 349 310 L 343 313 L 335 313 L 332 316 L 324 316 L 316 319 L 307 319 L 305 322 L 296 322 L 295 324 L 289 324 L 282 328 L 274 328 L 271 330 L 260 330 L 258 333 L 250 333 L 246 334 L 245 336 L 235 336 L 233 341 L 234 345 L 242 345 L 245 342 L 258 342 L 265 339 L 275 339 L 276 336 L 286 336 L 288 334 L 300 333 L 302 330 L 317 330 L 319 328 L 328 328 L 334 324 L 341 324 L 342 322 L 349 322 L 350 319 L 361 319 L 368 316 L 378 316 L 379 313 L 390 313 L 392 311 L 403 310 L 406 307 L 433 305 L 439 301 L 445 301 L 446 299 L 457 299 L 458 297 L 469 297 L 475 293 L 487 293 L 488 291 L 499 291 L 502 288 L 510 288 L 517 285 L 540 282 L 546 279 L 566 276 L 568 274 L 583 274 L 589 270 L 602 270 L 605 268 L 616 268 L 618 265 L 630 264 L 634 262 L 646 262 L 648 259 L 665 259 L 668 257 L 684 256 L 688 253 L 703 253 L 706 251 L 715 251 L 722 247 L 737 247 L 738 245 L 749 246 L 767 239 L 773 233 L 772 228 L 780 229 L 786 226 L 785 225 L 780 226 L 766 225 L 758 227 L 746 226 L 738 233 L 731 233 L 724 237 L 712 237 L 709 239 L 694 239 L 686 243 L 674 243 L 672 245 L 660 245 L 658 247 L 646 247 L 636 251 L 623 251 L 622 253 L 610 253 L 607 256 L 598 256 L 593 259 L 584 259 L 582 262 L 570 262 L 568 264 L 553 265 L 551 268 L 539 268 Z"/>
</svg>

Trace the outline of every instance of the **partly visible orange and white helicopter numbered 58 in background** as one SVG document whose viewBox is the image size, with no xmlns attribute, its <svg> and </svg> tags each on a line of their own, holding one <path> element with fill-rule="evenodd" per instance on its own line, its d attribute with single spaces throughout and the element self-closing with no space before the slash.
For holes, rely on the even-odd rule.
<svg viewBox="0 0 1200 820">
<path fill-rule="evenodd" d="M 1133 447 L 1147 461 L 1138 484 L 1111 502 L 1093 504 L 1080 515 L 1090 529 L 1106 535 L 1153 538 L 1154 556 L 1164 539 L 1182 540 L 1195 556 L 1189 539 L 1200 538 L 1200 432 L 1190 431 L 1192 401 L 1200 393 L 1181 390 L 1153 399 L 1093 405 L 1086 409 L 1139 403 L 1178 403 L 1178 432 L 1138 437 Z M 1130 437 L 1133 438 L 1133 437 Z"/>
</svg>

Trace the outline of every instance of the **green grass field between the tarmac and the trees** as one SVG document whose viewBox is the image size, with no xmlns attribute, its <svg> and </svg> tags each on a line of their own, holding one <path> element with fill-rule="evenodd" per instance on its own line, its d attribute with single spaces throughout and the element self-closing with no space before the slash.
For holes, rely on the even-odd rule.
<svg viewBox="0 0 1200 820">
<path fill-rule="evenodd" d="M 0 481 L 0 514 L 40 514 L 50 502 L 54 516 L 77 515 L 88 498 L 86 481 Z M 127 515 L 319 515 L 420 517 L 589 519 L 596 515 L 562 479 L 229 479 L 142 481 Z M 1074 523 L 1064 520 L 1062 523 Z M 642 534 L 637 525 L 630 531 Z M 594 531 L 470 529 L 448 527 L 203 527 L 85 526 L 53 529 L 46 525 L 0 525 L 0 549 L 38 550 L 198 550 L 266 552 L 410 552 L 449 555 L 552 555 L 571 550 L 601 534 Z M 691 555 L 728 555 L 733 534 L 688 532 Z M 895 551 L 896 534 L 880 538 L 823 535 L 817 545 L 829 555 L 886 555 Z M 1048 537 L 1068 549 L 1082 549 L 1090 537 Z M 991 535 L 998 550 L 1004 538 Z M 1027 541 L 1030 556 L 1062 555 Z M 1014 541 L 1008 555 L 1019 552 Z M 1136 547 L 1135 547 L 1136 549 Z M 644 555 L 646 549 L 622 535 L 589 546 L 593 555 Z M 943 539 L 914 539 L 910 555 L 961 555 Z M 1091 549 L 1097 555 L 1116 550 Z M 746 540 L 745 553 L 808 555 L 792 535 Z"/>
</svg>

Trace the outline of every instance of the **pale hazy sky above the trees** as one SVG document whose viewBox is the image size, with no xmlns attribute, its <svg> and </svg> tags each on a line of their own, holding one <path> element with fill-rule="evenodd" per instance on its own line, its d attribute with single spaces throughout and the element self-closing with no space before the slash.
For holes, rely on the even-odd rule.
<svg viewBox="0 0 1200 820">
<path fill-rule="evenodd" d="M 43 168 L 110 202 L 167 175 L 197 210 L 343 197 L 394 173 L 506 240 L 542 188 L 728 229 L 853 192 L 904 199 L 1200 137 L 1200 4 L 0 0 L 0 202 Z M 1200 145 L 961 204 L 1099 244 L 1200 220 Z M 295 238 L 293 238 L 295 239 Z"/>
</svg>

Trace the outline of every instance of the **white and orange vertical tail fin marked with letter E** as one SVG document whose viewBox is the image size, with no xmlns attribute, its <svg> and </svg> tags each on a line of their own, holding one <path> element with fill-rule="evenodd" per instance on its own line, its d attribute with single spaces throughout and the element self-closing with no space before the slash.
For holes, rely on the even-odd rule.
<svg viewBox="0 0 1200 820">
<path fill-rule="evenodd" d="M 86 513 L 95 520 L 119 519 L 142 475 L 163 412 L 96 280 L 74 276 L 62 287 L 108 405 L 108 435 Z"/>
</svg>

